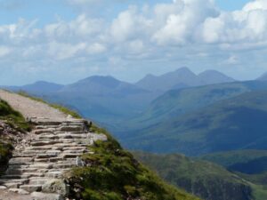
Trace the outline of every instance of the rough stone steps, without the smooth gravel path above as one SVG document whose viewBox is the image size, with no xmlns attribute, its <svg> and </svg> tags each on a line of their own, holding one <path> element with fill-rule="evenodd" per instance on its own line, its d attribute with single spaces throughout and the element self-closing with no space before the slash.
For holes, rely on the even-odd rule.
<svg viewBox="0 0 267 200">
<path fill-rule="evenodd" d="M 28 193 L 42 192 L 51 180 L 61 180 L 64 172 L 82 166 L 79 158 L 90 153 L 95 140 L 107 140 L 103 134 L 88 131 L 83 119 L 30 119 L 36 128 L 18 146 L 9 166 L 0 178 L 0 186 Z M 93 152 L 91 152 L 93 153 Z"/>
</svg>

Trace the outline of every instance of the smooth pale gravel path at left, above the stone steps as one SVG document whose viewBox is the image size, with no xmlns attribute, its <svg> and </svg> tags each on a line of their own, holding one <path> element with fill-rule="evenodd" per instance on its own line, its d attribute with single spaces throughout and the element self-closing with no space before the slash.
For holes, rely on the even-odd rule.
<svg viewBox="0 0 267 200">
<path fill-rule="evenodd" d="M 20 113 L 26 118 L 44 117 L 61 119 L 67 117 L 67 115 L 62 113 L 60 110 L 52 108 L 45 103 L 30 100 L 27 97 L 23 97 L 16 93 L 0 90 L 0 99 L 7 101 L 12 108 L 20 111 Z"/>
</svg>

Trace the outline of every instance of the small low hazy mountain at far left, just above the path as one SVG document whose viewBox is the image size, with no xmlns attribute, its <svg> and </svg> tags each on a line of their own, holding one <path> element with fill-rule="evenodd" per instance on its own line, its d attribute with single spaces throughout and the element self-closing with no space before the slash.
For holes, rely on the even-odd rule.
<svg viewBox="0 0 267 200">
<path fill-rule="evenodd" d="M 23 86 L 3 86 L 3 88 L 12 90 L 12 91 L 25 91 L 31 94 L 44 95 L 48 93 L 60 91 L 64 85 L 62 84 L 53 84 L 45 81 L 37 81 L 34 84 L 26 84 Z"/>
</svg>

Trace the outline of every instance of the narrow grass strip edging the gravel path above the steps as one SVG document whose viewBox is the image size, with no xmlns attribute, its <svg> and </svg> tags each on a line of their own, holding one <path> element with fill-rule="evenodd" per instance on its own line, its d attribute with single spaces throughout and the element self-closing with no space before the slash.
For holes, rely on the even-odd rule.
<svg viewBox="0 0 267 200">
<path fill-rule="evenodd" d="M 71 110 L 69 108 L 66 108 L 64 106 L 61 106 L 59 104 L 50 103 L 50 102 L 47 102 L 47 101 L 45 101 L 45 100 L 43 100 L 41 98 L 33 97 L 33 96 L 29 95 L 27 92 L 20 91 L 20 92 L 17 92 L 17 93 L 20 94 L 23 97 L 27 97 L 28 99 L 36 100 L 36 101 L 45 103 L 45 104 L 49 105 L 52 108 L 60 110 L 62 113 L 65 113 L 66 115 L 73 116 L 75 118 L 82 118 L 82 116 L 80 116 L 76 111 Z"/>
</svg>

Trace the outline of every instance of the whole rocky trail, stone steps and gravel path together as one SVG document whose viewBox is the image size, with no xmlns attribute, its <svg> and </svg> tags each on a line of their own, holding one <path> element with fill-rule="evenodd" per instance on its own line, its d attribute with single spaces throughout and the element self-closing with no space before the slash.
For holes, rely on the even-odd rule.
<svg viewBox="0 0 267 200">
<path fill-rule="evenodd" d="M 89 132 L 86 120 L 67 117 L 44 103 L 3 91 L 0 99 L 36 124 L 15 147 L 8 169 L 0 177 L 0 200 L 16 199 L 15 193 L 21 200 L 65 199 L 69 188 L 64 173 L 82 166 L 80 156 L 93 153 L 88 146 L 107 137 Z"/>
</svg>

